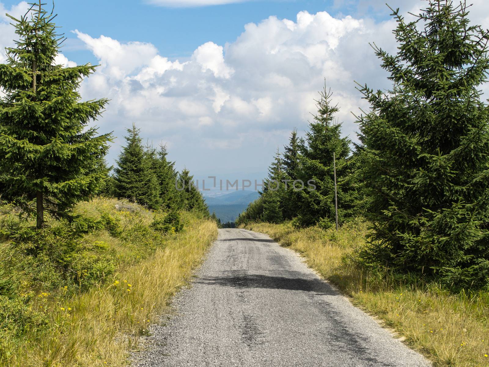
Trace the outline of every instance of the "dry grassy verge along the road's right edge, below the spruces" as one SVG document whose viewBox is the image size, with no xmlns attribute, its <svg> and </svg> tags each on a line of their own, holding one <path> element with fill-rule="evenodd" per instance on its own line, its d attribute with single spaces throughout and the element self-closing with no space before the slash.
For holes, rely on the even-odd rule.
<svg viewBox="0 0 489 367">
<path fill-rule="evenodd" d="M 246 228 L 301 253 L 311 268 L 394 328 L 435 366 L 489 366 L 488 292 L 454 295 L 437 284 L 365 273 L 345 260 L 364 244 L 365 223 L 345 224 L 338 232 L 267 223 Z"/>
</svg>

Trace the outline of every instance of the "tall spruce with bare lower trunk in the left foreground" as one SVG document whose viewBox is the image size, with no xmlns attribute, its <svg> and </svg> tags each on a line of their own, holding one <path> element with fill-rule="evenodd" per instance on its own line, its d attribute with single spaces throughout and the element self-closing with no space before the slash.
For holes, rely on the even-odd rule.
<svg viewBox="0 0 489 367">
<path fill-rule="evenodd" d="M 83 77 L 90 64 L 73 68 L 55 65 L 62 41 L 52 12 L 41 1 L 14 22 L 19 40 L 7 48 L 0 65 L 0 180 L 3 189 L 36 199 L 37 228 L 44 210 L 69 217 L 70 208 L 103 185 L 109 134 L 89 128 L 107 99 L 80 102 Z"/>
</svg>

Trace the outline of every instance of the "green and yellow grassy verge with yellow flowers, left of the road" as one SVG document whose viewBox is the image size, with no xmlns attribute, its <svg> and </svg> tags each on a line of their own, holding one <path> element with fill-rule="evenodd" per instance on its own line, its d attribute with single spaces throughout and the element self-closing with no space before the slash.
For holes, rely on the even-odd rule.
<svg viewBox="0 0 489 367">
<path fill-rule="evenodd" d="M 42 243 L 56 246 L 35 254 L 28 241 L 0 244 L 3 281 L 7 274 L 17 284 L 15 295 L 0 297 L 0 366 L 126 365 L 217 236 L 215 222 L 196 213 L 180 213 L 181 232 L 157 230 L 165 213 L 128 204 L 81 203 L 77 212 L 104 228 L 62 244 L 52 221 Z"/>
</svg>

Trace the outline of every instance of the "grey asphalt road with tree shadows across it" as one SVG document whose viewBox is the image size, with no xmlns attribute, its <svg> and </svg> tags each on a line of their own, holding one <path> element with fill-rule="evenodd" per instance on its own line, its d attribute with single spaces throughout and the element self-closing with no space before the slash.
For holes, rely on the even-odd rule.
<svg viewBox="0 0 489 367">
<path fill-rule="evenodd" d="M 134 366 L 431 366 L 267 235 L 220 229 Z"/>
</svg>

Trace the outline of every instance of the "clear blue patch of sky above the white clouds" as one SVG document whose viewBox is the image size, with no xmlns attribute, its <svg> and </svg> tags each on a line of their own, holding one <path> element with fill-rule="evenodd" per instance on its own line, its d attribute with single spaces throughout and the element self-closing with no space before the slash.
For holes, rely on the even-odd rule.
<svg viewBox="0 0 489 367">
<path fill-rule="evenodd" d="M 6 7 L 19 3 L 13 0 L 1 2 Z M 205 42 L 212 41 L 218 45 L 232 42 L 243 32 L 244 24 L 259 23 L 271 15 L 294 19 L 301 10 L 311 14 L 328 11 L 334 15 L 368 10 L 368 16 L 376 19 L 387 19 L 389 15 L 386 6 L 336 2 L 267 0 L 179 8 L 157 6 L 142 0 L 58 0 L 55 13 L 58 14 L 56 23 L 69 38 L 63 53 L 77 63 L 96 62 L 96 58 L 70 33 L 74 29 L 92 36 L 105 35 L 120 42 L 149 42 L 161 54 L 183 59 L 190 57 Z"/>
</svg>

